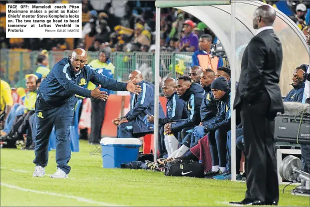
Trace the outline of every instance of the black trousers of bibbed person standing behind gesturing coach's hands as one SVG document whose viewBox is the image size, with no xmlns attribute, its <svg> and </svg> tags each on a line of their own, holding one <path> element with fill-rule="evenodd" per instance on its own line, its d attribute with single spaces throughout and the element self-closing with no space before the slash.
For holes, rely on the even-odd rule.
<svg viewBox="0 0 310 207">
<path fill-rule="evenodd" d="M 104 120 L 107 101 L 91 98 L 91 102 L 91 134 L 89 141 L 99 144 L 101 140 L 101 128 Z"/>
</svg>

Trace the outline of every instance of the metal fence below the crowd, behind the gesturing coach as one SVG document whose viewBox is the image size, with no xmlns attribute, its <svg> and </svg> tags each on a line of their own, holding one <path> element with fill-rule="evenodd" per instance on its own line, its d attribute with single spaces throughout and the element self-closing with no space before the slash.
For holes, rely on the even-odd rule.
<svg viewBox="0 0 310 207">
<path fill-rule="evenodd" d="M 39 51 L 15 51 L 1 50 L 1 79 L 7 81 L 11 87 L 25 87 L 25 75 L 35 73 Z M 49 52 L 49 68 L 68 57 L 71 51 Z M 98 52 L 88 52 L 88 60 L 98 58 Z M 155 73 L 155 53 L 145 52 L 113 52 L 111 62 L 115 66 L 114 78 L 119 81 L 128 80 L 128 76 L 133 70 L 140 70 L 144 79 L 154 82 Z M 160 54 L 160 77 L 177 78 L 182 74 L 188 73 L 192 62 L 192 53 L 161 53 Z"/>
</svg>

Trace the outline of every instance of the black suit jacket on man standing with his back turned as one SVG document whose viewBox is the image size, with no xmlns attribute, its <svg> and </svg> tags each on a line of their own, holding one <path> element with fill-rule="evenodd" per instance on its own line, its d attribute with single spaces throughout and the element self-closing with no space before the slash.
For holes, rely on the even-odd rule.
<svg viewBox="0 0 310 207">
<path fill-rule="evenodd" d="M 242 62 L 234 108 L 242 103 L 255 103 L 265 91 L 270 96 L 270 113 L 284 113 L 280 87 L 282 45 L 273 30 L 264 30 L 254 36 L 246 47 Z"/>
</svg>

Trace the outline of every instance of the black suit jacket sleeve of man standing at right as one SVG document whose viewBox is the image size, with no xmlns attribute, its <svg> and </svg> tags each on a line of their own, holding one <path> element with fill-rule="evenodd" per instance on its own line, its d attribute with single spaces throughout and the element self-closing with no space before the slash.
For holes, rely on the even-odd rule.
<svg viewBox="0 0 310 207">
<path fill-rule="evenodd" d="M 257 88 L 262 82 L 262 69 L 266 56 L 266 46 L 259 37 L 254 37 L 249 43 L 247 81 L 243 98 L 246 103 L 252 103 L 256 96 Z"/>
</svg>

